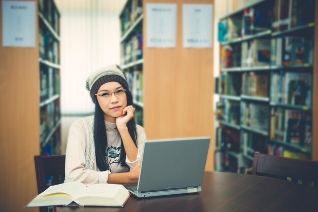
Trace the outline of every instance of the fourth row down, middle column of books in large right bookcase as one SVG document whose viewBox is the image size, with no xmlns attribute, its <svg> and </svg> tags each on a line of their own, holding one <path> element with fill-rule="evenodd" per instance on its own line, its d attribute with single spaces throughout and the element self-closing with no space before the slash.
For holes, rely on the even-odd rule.
<svg viewBox="0 0 318 212">
<path fill-rule="evenodd" d="M 268 131 L 270 110 L 268 104 L 241 102 L 241 125 L 256 130 Z"/>
</svg>

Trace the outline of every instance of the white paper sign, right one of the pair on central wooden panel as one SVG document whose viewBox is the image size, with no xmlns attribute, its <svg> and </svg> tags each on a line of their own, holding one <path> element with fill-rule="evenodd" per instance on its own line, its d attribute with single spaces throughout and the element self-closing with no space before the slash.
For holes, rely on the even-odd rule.
<svg viewBox="0 0 318 212">
<path fill-rule="evenodd" d="M 184 4 L 183 48 L 212 47 L 212 5 Z"/>
</svg>

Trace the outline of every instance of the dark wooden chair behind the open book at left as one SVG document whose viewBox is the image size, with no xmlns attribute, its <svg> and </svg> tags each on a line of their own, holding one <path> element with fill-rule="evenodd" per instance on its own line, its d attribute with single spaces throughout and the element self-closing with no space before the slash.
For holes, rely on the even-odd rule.
<svg viewBox="0 0 318 212">
<path fill-rule="evenodd" d="M 34 156 L 36 166 L 38 193 L 42 193 L 49 186 L 60 184 L 65 176 L 65 155 Z M 46 177 L 51 177 L 52 182 L 47 185 Z M 48 207 L 40 207 L 40 212 L 48 211 Z"/>
</svg>

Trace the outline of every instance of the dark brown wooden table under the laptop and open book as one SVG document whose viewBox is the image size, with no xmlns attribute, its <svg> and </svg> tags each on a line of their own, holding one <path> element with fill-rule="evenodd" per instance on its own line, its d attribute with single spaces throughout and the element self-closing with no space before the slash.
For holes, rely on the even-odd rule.
<svg viewBox="0 0 318 212">
<path fill-rule="evenodd" d="M 124 207 L 58 206 L 57 211 L 318 211 L 318 189 L 262 176 L 205 172 L 197 194 L 132 195 Z"/>
</svg>

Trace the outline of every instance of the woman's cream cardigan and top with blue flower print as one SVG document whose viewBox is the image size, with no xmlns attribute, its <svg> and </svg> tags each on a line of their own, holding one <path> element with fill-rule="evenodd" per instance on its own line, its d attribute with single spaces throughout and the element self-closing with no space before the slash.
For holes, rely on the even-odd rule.
<svg viewBox="0 0 318 212">
<path fill-rule="evenodd" d="M 96 164 L 95 146 L 93 142 L 93 116 L 82 118 L 72 123 L 66 149 L 65 182 L 78 181 L 86 186 L 96 183 L 107 183 L 111 172 L 128 172 L 122 167 L 120 158 L 121 138 L 115 123 L 105 121 L 107 136 L 107 156 L 110 170 L 100 171 Z M 142 158 L 142 150 L 146 140 L 144 128 L 136 125 L 138 155 L 135 161 L 126 157 L 126 164 L 133 169 Z"/>
</svg>

